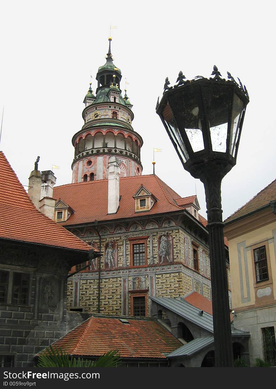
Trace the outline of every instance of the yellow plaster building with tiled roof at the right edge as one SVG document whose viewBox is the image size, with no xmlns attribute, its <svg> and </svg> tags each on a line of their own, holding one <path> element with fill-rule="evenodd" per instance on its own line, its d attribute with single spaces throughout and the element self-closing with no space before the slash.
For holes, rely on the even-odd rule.
<svg viewBox="0 0 276 389">
<path fill-rule="evenodd" d="M 250 362 L 276 364 L 276 180 L 225 220 L 234 326 L 250 332 Z"/>
</svg>

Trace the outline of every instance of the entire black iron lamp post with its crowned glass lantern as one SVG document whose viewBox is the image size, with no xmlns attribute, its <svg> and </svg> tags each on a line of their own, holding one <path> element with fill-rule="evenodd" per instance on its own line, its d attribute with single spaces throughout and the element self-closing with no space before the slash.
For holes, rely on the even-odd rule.
<svg viewBox="0 0 276 389">
<path fill-rule="evenodd" d="M 226 279 L 221 210 L 221 180 L 236 164 L 248 92 L 227 72 L 214 66 L 209 79 L 189 81 L 179 72 L 176 84 L 165 80 L 156 105 L 185 170 L 205 188 L 212 282 L 212 307 L 217 367 L 233 366 L 230 309 Z"/>
</svg>

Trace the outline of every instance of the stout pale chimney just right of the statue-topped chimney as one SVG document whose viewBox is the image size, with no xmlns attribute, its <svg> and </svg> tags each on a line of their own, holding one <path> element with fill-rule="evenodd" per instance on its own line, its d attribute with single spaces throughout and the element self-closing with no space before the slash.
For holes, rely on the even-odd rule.
<svg viewBox="0 0 276 389">
<path fill-rule="evenodd" d="M 53 186 L 56 183 L 56 177 L 51 170 L 41 172 L 41 200 L 39 201 L 39 210 L 42 214 L 54 219 L 55 199 L 53 198 Z"/>
</svg>

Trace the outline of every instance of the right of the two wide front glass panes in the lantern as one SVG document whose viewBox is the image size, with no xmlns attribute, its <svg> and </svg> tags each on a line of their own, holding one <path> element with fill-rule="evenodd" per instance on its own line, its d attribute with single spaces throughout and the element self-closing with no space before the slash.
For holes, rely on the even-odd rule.
<svg viewBox="0 0 276 389">
<path fill-rule="evenodd" d="M 221 88 L 219 85 L 204 87 L 203 104 L 210 128 L 212 150 L 226 152 L 231 89 Z"/>
</svg>

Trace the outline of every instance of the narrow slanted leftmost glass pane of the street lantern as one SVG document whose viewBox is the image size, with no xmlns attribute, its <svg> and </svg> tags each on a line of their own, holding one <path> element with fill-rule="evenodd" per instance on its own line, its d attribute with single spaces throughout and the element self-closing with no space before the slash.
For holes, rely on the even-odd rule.
<svg viewBox="0 0 276 389">
<path fill-rule="evenodd" d="M 179 128 L 173 117 L 172 110 L 170 109 L 170 106 L 168 104 L 163 109 L 162 116 L 167 127 L 167 132 L 170 134 L 170 137 L 172 138 L 173 143 L 177 148 L 177 152 L 180 155 L 180 158 L 185 163 L 189 159 L 188 152 L 183 143 Z"/>
</svg>

